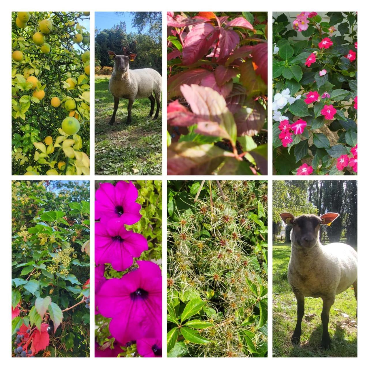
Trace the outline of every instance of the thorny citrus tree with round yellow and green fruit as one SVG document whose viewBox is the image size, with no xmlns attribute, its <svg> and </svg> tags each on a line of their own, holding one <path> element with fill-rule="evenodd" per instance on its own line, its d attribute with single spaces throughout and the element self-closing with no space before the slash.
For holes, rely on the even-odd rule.
<svg viewBox="0 0 369 369">
<path fill-rule="evenodd" d="M 89 12 L 12 13 L 13 175 L 90 173 L 88 19 Z"/>
</svg>

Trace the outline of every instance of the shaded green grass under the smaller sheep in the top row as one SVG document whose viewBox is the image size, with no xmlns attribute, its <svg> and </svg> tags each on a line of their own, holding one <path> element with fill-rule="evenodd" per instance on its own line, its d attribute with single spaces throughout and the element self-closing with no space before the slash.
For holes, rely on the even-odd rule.
<svg viewBox="0 0 369 369">
<path fill-rule="evenodd" d="M 128 100 L 121 99 L 115 123 L 109 125 L 114 100 L 108 84 L 109 77 L 95 81 L 95 174 L 161 175 L 161 111 L 159 118 L 152 120 L 148 117 L 151 106 L 149 99 L 135 100 L 131 112 L 132 123 L 126 125 Z M 155 111 L 156 103 L 154 114 Z"/>
</svg>

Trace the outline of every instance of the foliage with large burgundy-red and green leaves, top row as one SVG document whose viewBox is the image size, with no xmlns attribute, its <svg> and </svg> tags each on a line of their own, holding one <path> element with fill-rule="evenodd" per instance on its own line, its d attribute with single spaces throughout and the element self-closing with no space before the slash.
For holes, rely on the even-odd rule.
<svg viewBox="0 0 369 369">
<path fill-rule="evenodd" d="M 167 25 L 168 174 L 266 174 L 267 14 L 168 12 Z"/>
</svg>

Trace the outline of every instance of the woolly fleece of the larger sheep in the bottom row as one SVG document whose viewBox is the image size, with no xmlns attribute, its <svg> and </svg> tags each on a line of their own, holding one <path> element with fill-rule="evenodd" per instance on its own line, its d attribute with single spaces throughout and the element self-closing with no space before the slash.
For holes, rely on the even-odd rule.
<svg viewBox="0 0 369 369">
<path fill-rule="evenodd" d="M 356 251 L 346 244 L 292 245 L 288 282 L 303 296 L 333 297 L 357 280 L 357 263 Z"/>
</svg>

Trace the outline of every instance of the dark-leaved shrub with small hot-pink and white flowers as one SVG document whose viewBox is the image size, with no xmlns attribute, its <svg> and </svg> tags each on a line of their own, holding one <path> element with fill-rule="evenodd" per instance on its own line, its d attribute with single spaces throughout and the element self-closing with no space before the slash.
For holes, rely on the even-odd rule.
<svg viewBox="0 0 369 369">
<path fill-rule="evenodd" d="M 357 14 L 273 18 L 273 165 L 278 175 L 357 173 Z M 336 29 L 337 27 L 337 29 Z M 301 41 L 292 39 L 298 32 Z"/>
</svg>

